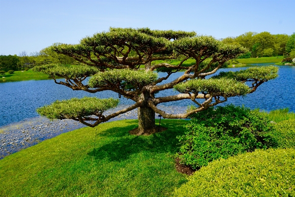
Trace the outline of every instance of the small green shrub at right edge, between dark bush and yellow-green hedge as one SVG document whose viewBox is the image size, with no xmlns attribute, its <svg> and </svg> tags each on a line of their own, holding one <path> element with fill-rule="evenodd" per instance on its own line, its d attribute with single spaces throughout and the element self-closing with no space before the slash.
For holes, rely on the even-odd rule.
<svg viewBox="0 0 295 197">
<path fill-rule="evenodd" d="M 274 138 L 281 148 L 295 148 L 295 119 L 279 122 L 274 126 Z"/>
</svg>

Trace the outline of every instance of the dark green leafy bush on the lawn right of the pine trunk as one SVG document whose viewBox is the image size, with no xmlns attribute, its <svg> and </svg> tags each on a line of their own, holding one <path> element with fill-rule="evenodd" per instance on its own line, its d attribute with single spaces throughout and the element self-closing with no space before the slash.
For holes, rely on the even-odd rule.
<svg viewBox="0 0 295 197">
<path fill-rule="evenodd" d="M 194 169 L 219 158 L 276 146 L 268 116 L 245 107 L 209 108 L 191 116 L 185 128 L 185 134 L 177 137 L 181 144 L 177 157 Z"/>
</svg>

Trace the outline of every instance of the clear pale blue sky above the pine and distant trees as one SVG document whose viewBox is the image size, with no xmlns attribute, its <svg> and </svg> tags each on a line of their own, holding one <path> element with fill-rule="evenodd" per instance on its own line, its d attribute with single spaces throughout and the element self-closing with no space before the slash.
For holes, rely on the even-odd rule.
<svg viewBox="0 0 295 197">
<path fill-rule="evenodd" d="M 216 38 L 295 32 L 295 0 L 0 0 L 0 55 L 75 44 L 109 27 L 195 31 Z"/>
</svg>

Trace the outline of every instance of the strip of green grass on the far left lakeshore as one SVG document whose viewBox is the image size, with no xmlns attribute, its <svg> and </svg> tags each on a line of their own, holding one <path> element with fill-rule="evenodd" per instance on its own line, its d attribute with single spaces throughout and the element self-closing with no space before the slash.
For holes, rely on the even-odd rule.
<svg viewBox="0 0 295 197">
<path fill-rule="evenodd" d="M 0 75 L 0 82 L 44 80 L 44 79 L 52 79 L 52 77 L 41 72 L 34 72 L 32 70 L 14 71 L 14 74 L 9 74 L 8 72 L 6 72 L 4 75 Z"/>
</svg>

